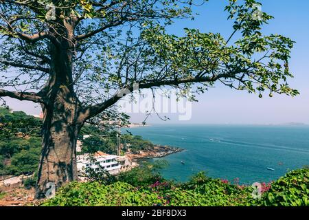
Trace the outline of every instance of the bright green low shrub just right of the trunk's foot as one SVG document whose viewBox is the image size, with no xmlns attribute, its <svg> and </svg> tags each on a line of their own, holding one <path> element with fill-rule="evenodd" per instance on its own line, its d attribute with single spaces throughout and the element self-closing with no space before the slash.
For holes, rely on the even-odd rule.
<svg viewBox="0 0 309 220">
<path fill-rule="evenodd" d="M 104 186 L 95 181 L 68 184 L 43 206 L 152 206 L 160 202 L 163 200 L 149 190 L 123 182 Z"/>
</svg>

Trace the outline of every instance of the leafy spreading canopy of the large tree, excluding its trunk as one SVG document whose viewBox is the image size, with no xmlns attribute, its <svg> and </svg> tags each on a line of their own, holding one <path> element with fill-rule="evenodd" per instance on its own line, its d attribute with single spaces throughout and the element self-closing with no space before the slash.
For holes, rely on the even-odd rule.
<svg viewBox="0 0 309 220">
<path fill-rule="evenodd" d="M 201 83 L 198 91 L 204 91 L 220 81 L 259 95 L 264 90 L 297 94 L 286 83 L 292 77 L 288 59 L 294 42 L 261 33 L 273 17 L 265 12 L 254 17 L 256 1 L 229 1 L 225 10 L 234 22 L 229 39 L 192 29 L 185 29 L 183 37 L 165 33 L 174 18 L 192 17 L 194 1 L 2 2 L 0 86 L 14 85 L 23 93 L 1 89 L 0 96 L 44 102 L 42 91 L 51 74 L 49 45 L 65 38 L 73 56 L 71 84 L 85 105 L 93 104 L 88 118 L 108 111 L 122 97 L 118 92 L 132 91 L 133 83 L 139 89 Z M 233 38 L 237 32 L 240 39 Z"/>
</svg>

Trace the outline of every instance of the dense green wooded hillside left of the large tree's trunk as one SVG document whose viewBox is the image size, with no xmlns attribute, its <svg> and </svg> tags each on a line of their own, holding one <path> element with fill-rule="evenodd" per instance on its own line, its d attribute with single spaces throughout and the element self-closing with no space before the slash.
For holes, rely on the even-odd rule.
<svg viewBox="0 0 309 220">
<path fill-rule="evenodd" d="M 41 120 L 23 111 L 0 108 L 0 174 L 31 174 L 41 153 Z"/>
</svg>

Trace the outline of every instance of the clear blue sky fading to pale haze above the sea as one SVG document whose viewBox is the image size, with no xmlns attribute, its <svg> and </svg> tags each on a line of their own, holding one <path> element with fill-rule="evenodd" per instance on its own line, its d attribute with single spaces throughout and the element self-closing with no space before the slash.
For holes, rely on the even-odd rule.
<svg viewBox="0 0 309 220">
<path fill-rule="evenodd" d="M 290 70 L 295 78 L 289 83 L 301 95 L 291 98 L 275 95 L 273 98 L 258 98 L 246 91 L 233 91 L 222 85 L 209 89 L 198 96 L 199 102 L 192 104 L 192 119 L 179 122 L 177 114 L 169 114 L 169 122 L 164 123 L 205 123 L 205 124 L 281 124 L 303 122 L 309 124 L 309 1 L 308 0 L 262 0 L 262 10 L 275 17 L 263 28 L 264 34 L 282 34 L 296 41 L 290 60 Z M 201 32 L 220 32 L 229 36 L 232 23 L 227 21 L 224 12 L 226 0 L 209 0 L 203 6 L 194 8 L 199 15 L 194 21 L 179 20 L 168 28 L 172 34 L 182 35 L 183 28 L 198 28 Z M 14 110 L 38 114 L 41 109 L 34 108 L 30 102 L 9 100 Z M 144 120 L 144 114 L 131 114 L 133 122 Z M 149 123 L 161 123 L 155 115 Z"/>
</svg>

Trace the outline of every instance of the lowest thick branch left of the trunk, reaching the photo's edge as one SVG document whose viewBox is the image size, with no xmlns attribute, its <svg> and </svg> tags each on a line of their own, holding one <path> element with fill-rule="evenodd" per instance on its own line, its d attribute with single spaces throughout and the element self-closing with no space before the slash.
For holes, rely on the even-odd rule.
<svg viewBox="0 0 309 220">
<path fill-rule="evenodd" d="M 5 89 L 0 89 L 0 97 L 10 97 L 18 100 L 45 103 L 42 96 L 32 92 L 8 91 Z"/>
</svg>

